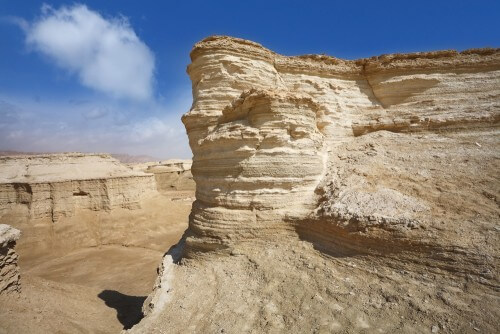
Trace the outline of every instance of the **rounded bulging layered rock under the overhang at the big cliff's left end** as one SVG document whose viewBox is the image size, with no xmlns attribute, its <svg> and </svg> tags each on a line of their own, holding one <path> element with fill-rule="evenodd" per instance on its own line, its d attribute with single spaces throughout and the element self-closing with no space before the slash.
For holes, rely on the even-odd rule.
<svg viewBox="0 0 500 334">
<path fill-rule="evenodd" d="M 319 105 L 307 96 L 250 90 L 198 142 L 191 228 L 202 247 L 269 233 L 315 207 L 325 171 Z"/>
</svg>

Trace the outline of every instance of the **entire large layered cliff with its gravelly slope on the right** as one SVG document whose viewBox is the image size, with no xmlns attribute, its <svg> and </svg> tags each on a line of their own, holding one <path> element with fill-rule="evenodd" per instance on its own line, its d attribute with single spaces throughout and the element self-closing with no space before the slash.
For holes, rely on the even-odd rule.
<svg viewBox="0 0 500 334">
<path fill-rule="evenodd" d="M 495 331 L 499 49 L 191 60 L 196 201 L 136 332 Z"/>
</svg>

